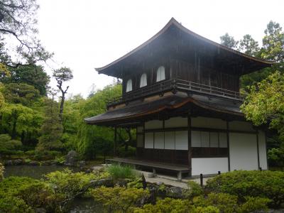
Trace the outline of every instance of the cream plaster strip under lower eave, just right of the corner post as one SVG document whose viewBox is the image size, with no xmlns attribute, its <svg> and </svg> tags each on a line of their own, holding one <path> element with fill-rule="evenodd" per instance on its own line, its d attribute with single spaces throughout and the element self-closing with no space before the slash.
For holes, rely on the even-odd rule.
<svg viewBox="0 0 284 213">
<path fill-rule="evenodd" d="M 195 117 L 191 118 L 191 126 L 212 129 L 226 129 L 226 121 L 207 117 Z"/>
</svg>

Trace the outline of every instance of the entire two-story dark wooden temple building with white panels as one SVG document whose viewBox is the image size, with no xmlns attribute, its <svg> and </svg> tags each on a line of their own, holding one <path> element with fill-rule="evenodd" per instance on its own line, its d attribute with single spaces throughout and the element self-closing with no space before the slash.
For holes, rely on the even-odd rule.
<svg viewBox="0 0 284 213">
<path fill-rule="evenodd" d="M 121 97 L 87 124 L 137 129 L 137 158 L 190 175 L 267 169 L 266 134 L 240 111 L 241 75 L 273 62 L 226 48 L 172 18 L 138 48 L 96 70 Z M 163 167 L 162 167 L 163 168 Z"/>
</svg>

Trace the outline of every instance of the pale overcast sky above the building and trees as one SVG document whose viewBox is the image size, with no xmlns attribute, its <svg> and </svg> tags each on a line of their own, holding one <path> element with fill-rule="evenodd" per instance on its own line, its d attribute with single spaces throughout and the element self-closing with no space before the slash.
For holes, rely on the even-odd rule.
<svg viewBox="0 0 284 213">
<path fill-rule="evenodd" d="M 273 20 L 284 27 L 284 1 L 94 1 L 38 0 L 39 38 L 55 53 L 45 70 L 73 70 L 70 94 L 87 97 L 92 84 L 102 89 L 113 78 L 98 75 L 102 67 L 151 38 L 174 17 L 183 26 L 219 43 L 229 33 L 236 40 L 251 34 L 261 43 Z M 55 82 L 52 82 L 55 85 Z"/>
</svg>

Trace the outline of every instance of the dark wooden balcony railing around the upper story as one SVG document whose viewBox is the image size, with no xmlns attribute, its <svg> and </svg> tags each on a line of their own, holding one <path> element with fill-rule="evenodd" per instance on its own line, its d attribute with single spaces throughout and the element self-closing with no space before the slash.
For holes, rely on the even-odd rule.
<svg viewBox="0 0 284 213">
<path fill-rule="evenodd" d="M 206 84 L 198 84 L 180 79 L 171 79 L 159 82 L 150 86 L 142 87 L 131 92 L 127 92 L 122 96 L 109 99 L 107 107 L 124 102 L 130 102 L 142 97 L 148 97 L 153 94 L 163 94 L 164 92 L 193 92 L 195 94 L 207 94 L 209 96 L 224 97 L 227 99 L 234 99 L 236 101 L 243 101 L 244 97 L 239 92 L 234 92 L 228 89 L 219 87 L 212 87 Z"/>
</svg>

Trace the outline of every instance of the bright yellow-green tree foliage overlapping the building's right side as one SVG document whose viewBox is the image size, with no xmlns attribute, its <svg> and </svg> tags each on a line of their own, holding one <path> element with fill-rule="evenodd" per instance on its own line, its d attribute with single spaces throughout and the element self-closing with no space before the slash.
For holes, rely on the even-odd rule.
<svg viewBox="0 0 284 213">
<path fill-rule="evenodd" d="M 284 75 L 275 72 L 252 86 L 241 111 L 253 124 L 269 124 L 284 140 Z"/>
</svg>

